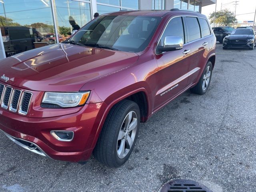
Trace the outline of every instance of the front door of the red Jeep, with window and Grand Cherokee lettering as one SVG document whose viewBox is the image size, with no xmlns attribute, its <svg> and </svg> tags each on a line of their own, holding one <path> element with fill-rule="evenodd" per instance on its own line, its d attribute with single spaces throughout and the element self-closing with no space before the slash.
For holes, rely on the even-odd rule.
<svg viewBox="0 0 256 192">
<path fill-rule="evenodd" d="M 163 46 L 166 36 L 179 36 L 186 43 L 182 16 L 171 18 L 162 33 L 158 46 Z M 190 64 L 190 45 L 184 44 L 180 50 L 156 53 L 158 64 L 158 88 L 154 108 L 165 104 L 187 86 L 186 74 Z"/>
</svg>

